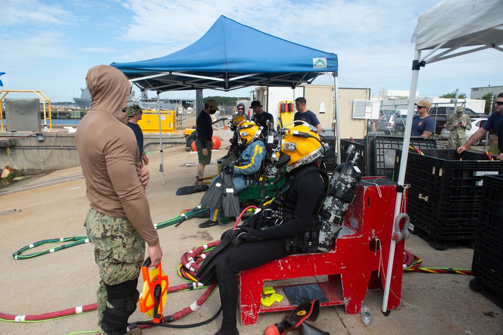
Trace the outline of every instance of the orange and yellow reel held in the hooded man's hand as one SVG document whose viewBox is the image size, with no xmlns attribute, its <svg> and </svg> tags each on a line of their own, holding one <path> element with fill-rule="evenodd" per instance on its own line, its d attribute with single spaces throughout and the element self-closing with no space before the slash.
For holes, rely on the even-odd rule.
<svg viewBox="0 0 503 335">
<path fill-rule="evenodd" d="M 150 257 L 147 257 L 141 266 L 143 291 L 138 304 L 140 306 L 140 312 L 151 316 L 154 322 L 160 323 L 164 320 L 162 307 L 166 303 L 166 290 L 169 285 L 169 280 L 167 276 L 164 275 L 164 272 L 162 272 L 160 262 L 150 271 L 148 271 L 149 266 Z"/>
</svg>

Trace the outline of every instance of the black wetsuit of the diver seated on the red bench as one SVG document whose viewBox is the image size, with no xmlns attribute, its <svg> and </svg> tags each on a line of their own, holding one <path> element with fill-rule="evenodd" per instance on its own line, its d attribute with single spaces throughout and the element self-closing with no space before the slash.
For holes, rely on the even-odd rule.
<svg viewBox="0 0 503 335">
<path fill-rule="evenodd" d="M 309 165 L 297 167 L 292 173 L 297 174 Z M 283 202 L 284 212 L 292 213 L 293 218 L 279 226 L 261 230 L 263 241 L 243 241 L 218 258 L 215 268 L 223 309 L 222 324 L 235 325 L 237 322 L 239 292 L 236 275 L 242 270 L 257 268 L 292 255 L 292 249 L 285 249 L 285 238 L 302 234 L 309 228 L 313 212 L 320 205 L 323 196 L 323 181 L 319 172 L 312 170 L 302 174 L 286 192 Z"/>
</svg>

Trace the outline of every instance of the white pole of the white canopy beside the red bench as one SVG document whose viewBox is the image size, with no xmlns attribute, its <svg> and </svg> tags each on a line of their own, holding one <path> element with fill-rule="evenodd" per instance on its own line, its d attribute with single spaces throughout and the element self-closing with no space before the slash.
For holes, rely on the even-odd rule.
<svg viewBox="0 0 503 335">
<path fill-rule="evenodd" d="M 421 50 L 416 50 L 414 59 L 418 60 L 421 57 Z M 412 116 L 414 114 L 414 104 L 415 104 L 415 92 L 417 90 L 417 78 L 419 77 L 419 69 L 412 70 L 412 79 L 410 82 L 410 93 L 409 93 L 409 104 L 407 109 L 407 122 L 405 124 L 405 130 L 403 132 L 403 145 L 402 145 L 402 155 L 400 159 L 400 170 L 398 172 L 398 185 L 396 192 L 395 201 L 395 214 L 393 216 L 393 222 L 391 222 L 392 227 L 398 214 L 400 214 L 400 208 L 402 204 L 402 195 L 404 192 L 403 183 L 405 181 L 405 170 L 407 168 L 407 157 L 408 157 L 408 145 L 410 143 L 410 131 L 412 130 Z M 393 228 L 391 229 L 391 234 L 393 234 Z M 388 297 L 389 297 L 389 287 L 391 284 L 391 270 L 393 267 L 393 261 L 395 256 L 395 241 L 391 239 L 391 244 L 389 248 L 388 257 L 388 268 L 386 270 L 386 285 L 384 286 L 384 297 L 382 300 L 382 312 L 386 313 L 388 309 Z"/>
</svg>

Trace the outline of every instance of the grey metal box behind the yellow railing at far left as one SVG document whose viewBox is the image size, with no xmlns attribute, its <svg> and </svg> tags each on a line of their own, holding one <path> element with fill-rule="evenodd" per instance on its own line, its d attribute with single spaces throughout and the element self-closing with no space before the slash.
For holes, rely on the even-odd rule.
<svg viewBox="0 0 503 335">
<path fill-rule="evenodd" d="M 40 99 L 4 99 L 7 131 L 40 132 Z"/>
</svg>

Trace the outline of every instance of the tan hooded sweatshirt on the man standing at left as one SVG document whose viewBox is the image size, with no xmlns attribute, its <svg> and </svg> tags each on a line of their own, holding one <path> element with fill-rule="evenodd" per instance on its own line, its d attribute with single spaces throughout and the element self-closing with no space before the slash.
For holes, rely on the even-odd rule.
<svg viewBox="0 0 503 335">
<path fill-rule="evenodd" d="M 127 126 L 131 87 L 117 68 L 91 68 L 86 83 L 93 98 L 91 110 L 78 123 L 75 146 L 86 178 L 91 207 L 117 218 L 128 218 L 149 246 L 159 243 L 140 182 L 140 155 L 136 138 Z"/>
</svg>

